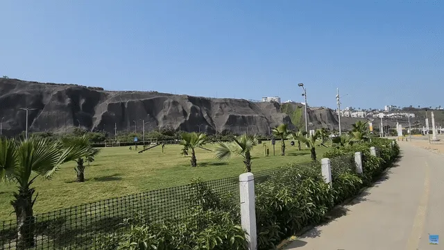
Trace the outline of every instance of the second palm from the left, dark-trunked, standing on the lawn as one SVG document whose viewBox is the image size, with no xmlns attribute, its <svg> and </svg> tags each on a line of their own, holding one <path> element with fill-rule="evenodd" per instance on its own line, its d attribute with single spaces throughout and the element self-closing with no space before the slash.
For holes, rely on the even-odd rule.
<svg viewBox="0 0 444 250">
<path fill-rule="evenodd" d="M 85 135 L 82 137 L 62 138 L 60 142 L 64 147 L 83 147 L 87 149 L 83 156 L 74 160 L 77 163 L 77 166 L 74 168 L 77 174 L 77 182 L 85 182 L 85 160 L 89 166 L 89 163 L 92 163 L 100 153 L 100 149 L 92 147 L 91 144 L 89 144 L 89 139 Z"/>
</svg>

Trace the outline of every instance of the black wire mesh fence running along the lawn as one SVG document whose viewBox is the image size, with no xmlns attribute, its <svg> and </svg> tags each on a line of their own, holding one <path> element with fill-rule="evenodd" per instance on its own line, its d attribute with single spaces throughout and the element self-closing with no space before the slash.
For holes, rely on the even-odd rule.
<svg viewBox="0 0 444 250">
<path fill-rule="evenodd" d="M 285 175 L 287 170 L 295 167 L 313 166 L 318 168 L 315 171 L 320 171 L 320 164 L 316 162 L 255 172 L 255 183 L 262 183 L 276 174 Z M 140 215 L 150 223 L 192 219 L 195 210 L 191 208 L 197 201 L 205 200 L 200 198 L 208 192 L 218 197 L 230 197 L 233 202 L 228 205 L 229 209 L 240 213 L 239 176 L 236 176 L 3 221 L 0 222 L 0 249 L 96 249 L 94 244 L 100 235 L 123 234 L 128 229 L 126 222 Z M 226 203 L 223 206 L 227 206 Z M 196 226 L 205 228 L 207 225 Z"/>
</svg>

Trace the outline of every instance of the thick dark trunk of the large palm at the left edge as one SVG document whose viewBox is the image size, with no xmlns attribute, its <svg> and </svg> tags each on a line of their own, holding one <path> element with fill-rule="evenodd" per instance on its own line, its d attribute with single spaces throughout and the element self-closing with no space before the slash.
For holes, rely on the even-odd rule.
<svg viewBox="0 0 444 250">
<path fill-rule="evenodd" d="M 17 217 L 17 249 L 28 249 L 35 246 L 34 230 L 35 218 L 33 216 L 33 188 L 19 188 L 14 194 L 15 200 L 11 201 Z M 37 196 L 35 197 L 37 198 Z"/>
</svg>

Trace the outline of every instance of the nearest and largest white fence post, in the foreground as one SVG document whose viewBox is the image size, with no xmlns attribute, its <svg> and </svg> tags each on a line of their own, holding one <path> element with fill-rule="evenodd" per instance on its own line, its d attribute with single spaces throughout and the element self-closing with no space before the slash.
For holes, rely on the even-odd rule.
<svg viewBox="0 0 444 250">
<path fill-rule="evenodd" d="M 241 226 L 246 231 L 248 250 L 257 250 L 256 208 L 255 208 L 255 176 L 244 173 L 239 176 L 241 194 Z"/>
</svg>

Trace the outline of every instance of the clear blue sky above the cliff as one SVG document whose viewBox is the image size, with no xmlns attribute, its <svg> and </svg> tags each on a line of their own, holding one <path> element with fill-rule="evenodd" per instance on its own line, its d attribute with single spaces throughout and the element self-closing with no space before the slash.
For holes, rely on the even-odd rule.
<svg viewBox="0 0 444 250">
<path fill-rule="evenodd" d="M 444 3 L 0 1 L 0 75 L 108 90 L 444 106 Z M 438 89 L 441 89 L 438 91 Z M 348 95 L 346 95 L 348 94 Z"/>
</svg>

